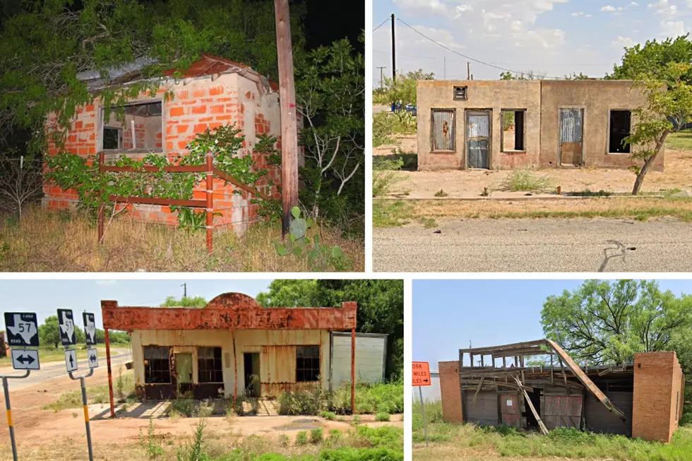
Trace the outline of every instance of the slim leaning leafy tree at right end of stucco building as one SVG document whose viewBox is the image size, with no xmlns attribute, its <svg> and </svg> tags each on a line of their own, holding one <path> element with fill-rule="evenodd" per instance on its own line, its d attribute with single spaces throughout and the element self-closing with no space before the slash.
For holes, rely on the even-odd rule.
<svg viewBox="0 0 692 461">
<path fill-rule="evenodd" d="M 637 177 L 632 188 L 636 196 L 644 176 L 663 149 L 670 133 L 692 121 L 692 85 L 688 76 L 692 66 L 670 63 L 655 72 L 638 76 L 637 85 L 646 92 L 648 107 L 634 111 L 637 124 L 624 143 L 632 145 L 631 157 L 643 162 L 633 167 Z"/>
</svg>

